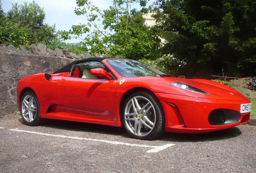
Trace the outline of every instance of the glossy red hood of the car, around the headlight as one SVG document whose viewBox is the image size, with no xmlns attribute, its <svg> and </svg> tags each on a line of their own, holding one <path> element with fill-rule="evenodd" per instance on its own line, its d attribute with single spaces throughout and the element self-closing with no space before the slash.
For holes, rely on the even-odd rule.
<svg viewBox="0 0 256 173">
<path fill-rule="evenodd" d="M 221 100 L 244 100 L 247 99 L 244 95 L 228 87 L 227 85 L 221 84 L 219 82 L 215 82 L 212 80 L 204 80 L 204 79 L 184 79 L 184 78 L 176 78 L 176 77 L 135 77 L 135 78 L 126 78 L 127 82 L 123 87 L 132 83 L 132 85 L 139 85 L 138 87 L 147 86 L 153 92 L 157 93 L 168 93 L 175 95 L 184 95 L 190 97 L 198 97 L 205 99 L 221 99 Z M 136 82 L 136 84 L 134 83 Z M 183 82 L 185 84 L 192 85 L 198 89 L 209 93 L 200 94 L 192 91 L 187 91 L 184 89 L 180 89 L 178 87 L 174 87 L 171 85 L 171 82 Z"/>
</svg>

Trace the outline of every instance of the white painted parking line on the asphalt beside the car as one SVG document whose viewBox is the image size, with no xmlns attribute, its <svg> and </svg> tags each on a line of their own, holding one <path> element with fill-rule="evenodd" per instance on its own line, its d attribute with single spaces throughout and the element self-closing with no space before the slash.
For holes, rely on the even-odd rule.
<svg viewBox="0 0 256 173">
<path fill-rule="evenodd" d="M 37 134 L 37 135 L 52 136 L 52 137 L 79 139 L 79 140 L 86 140 L 86 141 L 96 141 L 96 142 L 110 143 L 110 144 L 116 144 L 116 145 L 127 145 L 127 146 L 134 146 L 134 147 L 153 148 L 153 149 L 150 149 L 149 151 L 147 151 L 147 153 L 156 153 L 158 151 L 162 151 L 163 149 L 167 149 L 168 147 L 175 145 L 175 144 L 166 144 L 163 146 L 152 146 L 152 145 L 123 143 L 123 142 L 116 142 L 116 141 L 106 141 L 106 140 L 101 140 L 101 139 L 90 139 L 90 138 L 81 138 L 81 137 L 70 137 L 70 136 L 64 136 L 64 135 L 53 135 L 53 134 L 49 134 L 49 133 L 25 131 L 25 130 L 19 130 L 19 129 L 9 129 L 9 130 L 17 131 L 17 132 L 33 133 L 33 134 Z"/>
</svg>

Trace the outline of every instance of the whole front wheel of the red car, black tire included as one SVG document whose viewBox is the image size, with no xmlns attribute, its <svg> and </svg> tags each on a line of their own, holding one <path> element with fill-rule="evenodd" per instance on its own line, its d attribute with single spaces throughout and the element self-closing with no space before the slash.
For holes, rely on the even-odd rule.
<svg viewBox="0 0 256 173">
<path fill-rule="evenodd" d="M 135 139 L 151 140 L 165 130 L 162 105 L 149 92 L 138 91 L 130 95 L 124 102 L 121 119 L 126 131 Z"/>
</svg>

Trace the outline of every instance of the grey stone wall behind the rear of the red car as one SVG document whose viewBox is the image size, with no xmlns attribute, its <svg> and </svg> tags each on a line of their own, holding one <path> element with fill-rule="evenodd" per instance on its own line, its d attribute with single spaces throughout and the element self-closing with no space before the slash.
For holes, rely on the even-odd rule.
<svg viewBox="0 0 256 173">
<path fill-rule="evenodd" d="M 90 54 L 74 54 L 68 50 L 50 50 L 39 43 L 16 49 L 12 44 L 0 44 L 0 117 L 14 114 L 17 107 L 17 82 L 20 78 L 35 73 L 52 73 L 78 59 L 91 57 Z"/>
</svg>

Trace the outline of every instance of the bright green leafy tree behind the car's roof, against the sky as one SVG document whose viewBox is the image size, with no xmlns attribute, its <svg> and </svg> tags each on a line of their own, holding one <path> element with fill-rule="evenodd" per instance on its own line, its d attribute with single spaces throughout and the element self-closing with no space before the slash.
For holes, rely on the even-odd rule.
<svg viewBox="0 0 256 173">
<path fill-rule="evenodd" d="M 89 0 L 76 0 L 75 14 L 85 16 L 87 23 L 62 31 L 62 38 L 81 38 L 92 55 L 157 58 L 160 40 L 142 18 L 147 1 L 113 0 L 112 6 L 100 10 Z M 135 3 L 140 4 L 140 10 L 132 7 Z"/>
</svg>

